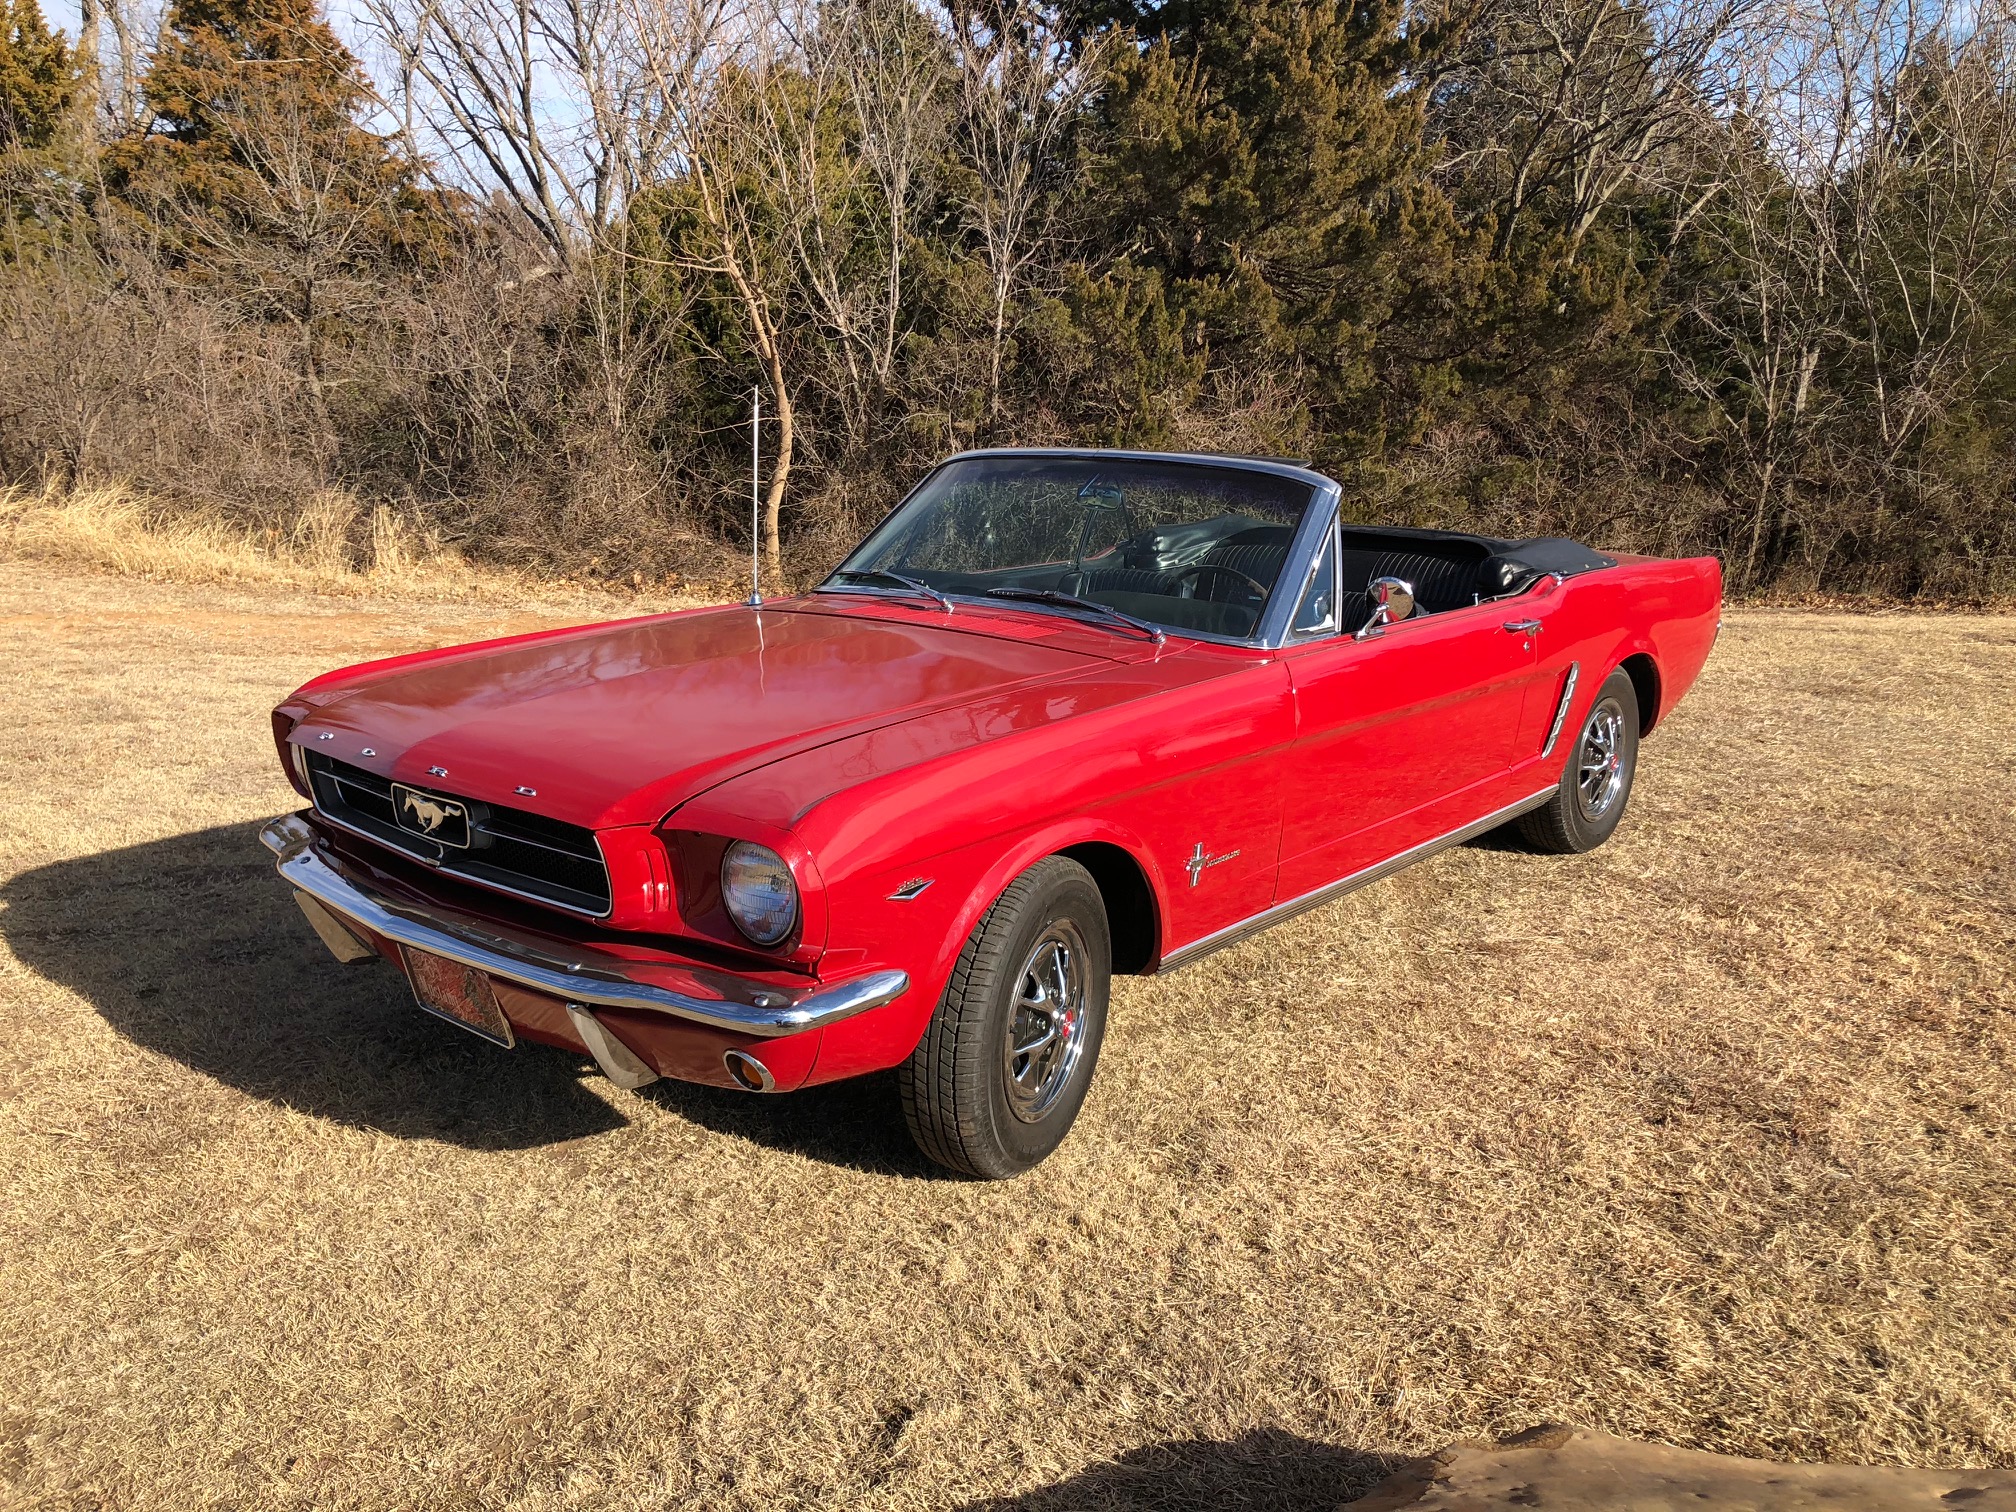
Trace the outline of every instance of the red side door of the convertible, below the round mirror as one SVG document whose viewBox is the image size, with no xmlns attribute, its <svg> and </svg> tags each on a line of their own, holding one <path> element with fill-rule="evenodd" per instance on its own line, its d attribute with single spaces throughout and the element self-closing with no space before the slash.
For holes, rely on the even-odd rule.
<svg viewBox="0 0 2016 1512">
<path fill-rule="evenodd" d="M 1538 619 L 1484 603 L 1282 651 L 1296 736 L 1278 901 L 1460 829 L 1502 802 Z"/>
</svg>

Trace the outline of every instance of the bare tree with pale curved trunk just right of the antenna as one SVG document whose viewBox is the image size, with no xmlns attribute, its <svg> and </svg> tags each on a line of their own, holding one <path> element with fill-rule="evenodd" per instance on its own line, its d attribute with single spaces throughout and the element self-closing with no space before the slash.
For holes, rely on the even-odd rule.
<svg viewBox="0 0 2016 1512">
<path fill-rule="evenodd" d="M 891 413 L 915 312 L 905 262 L 948 131 L 946 42 L 907 0 L 776 0 L 675 83 L 681 30 L 657 0 L 633 4 L 647 67 L 681 101 L 665 187 L 700 234 L 675 260 L 730 290 L 770 395 L 762 548 L 776 571 L 806 397 L 839 456 L 861 456 Z"/>
</svg>

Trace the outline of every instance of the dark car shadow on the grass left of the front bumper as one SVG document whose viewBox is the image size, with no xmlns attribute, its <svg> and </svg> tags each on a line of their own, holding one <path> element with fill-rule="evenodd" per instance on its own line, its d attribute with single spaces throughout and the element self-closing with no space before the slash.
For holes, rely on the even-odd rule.
<svg viewBox="0 0 2016 1512">
<path fill-rule="evenodd" d="M 260 827 L 56 861 L 0 885 L 0 935 L 135 1044 L 270 1103 L 401 1139 L 528 1149 L 625 1125 L 585 1058 L 506 1052 L 341 966 L 272 873 Z"/>
</svg>

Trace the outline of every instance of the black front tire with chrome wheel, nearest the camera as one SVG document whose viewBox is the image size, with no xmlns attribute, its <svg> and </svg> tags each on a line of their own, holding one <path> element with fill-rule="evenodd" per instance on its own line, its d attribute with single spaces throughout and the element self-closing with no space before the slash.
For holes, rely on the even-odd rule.
<svg viewBox="0 0 2016 1512">
<path fill-rule="evenodd" d="M 1058 948 L 1066 976 L 1058 976 Z M 1099 1064 L 1111 980 L 1107 907 L 1085 867 L 1048 857 L 1008 883 L 897 1073 L 917 1149 L 988 1181 L 1020 1175 L 1056 1149 Z M 1050 1020 L 1056 1048 L 1048 1058 L 1040 1050 L 1016 1056 L 1016 1044 L 1040 1040 L 1040 1000 L 1068 1014 L 1062 1032 Z"/>
</svg>

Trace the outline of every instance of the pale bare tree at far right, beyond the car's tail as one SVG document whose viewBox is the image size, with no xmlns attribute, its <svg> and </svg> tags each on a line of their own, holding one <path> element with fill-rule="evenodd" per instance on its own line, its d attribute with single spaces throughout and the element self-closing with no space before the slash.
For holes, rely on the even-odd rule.
<svg viewBox="0 0 2016 1512">
<path fill-rule="evenodd" d="M 1883 528 L 1929 429 L 2016 359 L 1990 319 L 2016 278 L 2008 8 L 1792 0 L 1760 36 L 1675 185 L 1726 272 L 1667 349 L 1746 460 L 1744 587 L 1774 542 Z"/>
</svg>

